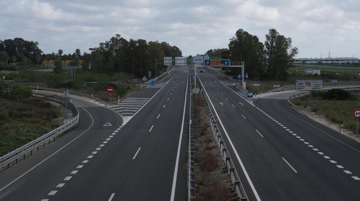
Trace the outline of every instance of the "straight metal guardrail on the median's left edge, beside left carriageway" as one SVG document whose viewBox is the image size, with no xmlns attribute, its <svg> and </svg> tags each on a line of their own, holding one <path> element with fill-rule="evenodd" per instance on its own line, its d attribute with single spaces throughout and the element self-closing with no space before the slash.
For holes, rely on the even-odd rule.
<svg viewBox="0 0 360 201">
<path fill-rule="evenodd" d="M 191 84 L 191 83 L 190 83 Z M 188 201 L 195 201 L 195 160 L 194 160 L 194 130 L 193 130 L 193 92 L 190 90 L 190 118 L 189 118 L 189 193 Z"/>
</svg>

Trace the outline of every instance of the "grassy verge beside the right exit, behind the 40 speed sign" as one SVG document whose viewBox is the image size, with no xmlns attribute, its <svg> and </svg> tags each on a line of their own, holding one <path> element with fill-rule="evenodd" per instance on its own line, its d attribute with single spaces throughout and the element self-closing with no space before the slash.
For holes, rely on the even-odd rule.
<svg viewBox="0 0 360 201">
<path fill-rule="evenodd" d="M 349 91 L 349 93 L 351 95 L 350 100 L 327 100 L 322 97 L 316 100 L 316 93 L 312 93 L 311 101 L 307 95 L 300 99 L 294 99 L 292 102 L 301 108 L 310 108 L 312 112 L 323 115 L 332 123 L 344 124 L 345 129 L 356 131 L 356 118 L 352 113 L 359 109 L 360 91 Z"/>
</svg>

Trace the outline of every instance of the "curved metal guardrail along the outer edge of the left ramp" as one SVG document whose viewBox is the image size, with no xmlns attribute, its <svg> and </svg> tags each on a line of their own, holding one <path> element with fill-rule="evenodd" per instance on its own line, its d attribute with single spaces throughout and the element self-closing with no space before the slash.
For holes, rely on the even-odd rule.
<svg viewBox="0 0 360 201">
<path fill-rule="evenodd" d="M 61 96 L 57 96 L 57 95 L 45 95 L 45 94 L 40 94 L 40 93 L 33 93 L 33 96 L 41 96 L 42 98 L 46 99 L 46 100 L 50 100 L 50 101 L 55 101 L 58 102 L 59 104 L 62 104 L 63 106 L 66 105 L 63 97 Z M 23 160 L 25 160 L 27 157 L 30 157 L 33 153 L 33 150 L 37 148 L 37 151 L 39 151 L 39 147 L 42 146 L 43 148 L 45 147 L 45 142 L 51 142 L 51 139 L 54 139 L 55 141 L 55 137 L 58 136 L 58 138 L 60 137 L 60 134 L 62 134 L 64 136 L 65 132 L 68 133 L 69 131 L 72 131 L 73 129 L 75 129 L 75 127 L 78 126 L 79 123 L 79 111 L 76 108 L 76 106 L 74 104 L 72 104 L 71 102 L 68 102 L 67 104 L 68 109 L 72 111 L 73 115 L 75 116 L 75 118 L 73 118 L 72 120 L 70 120 L 68 123 L 54 129 L 53 131 L 50 131 L 46 134 L 44 134 L 43 136 L 37 138 L 36 140 L 33 140 L 29 143 L 27 143 L 26 145 L 23 145 L 21 147 L 19 147 L 18 149 L 15 149 L 12 152 L 9 152 L 8 154 L 5 154 L 4 156 L 0 157 L 0 173 L 1 173 L 1 169 L 3 168 L 3 166 L 5 164 L 8 165 L 8 169 L 10 168 L 10 163 L 12 161 L 15 161 L 16 164 L 19 163 L 19 158 L 23 157 Z M 53 142 L 54 142 L 53 141 Z M 29 154 L 30 152 L 30 154 Z M 26 155 L 28 155 L 26 157 Z"/>
</svg>

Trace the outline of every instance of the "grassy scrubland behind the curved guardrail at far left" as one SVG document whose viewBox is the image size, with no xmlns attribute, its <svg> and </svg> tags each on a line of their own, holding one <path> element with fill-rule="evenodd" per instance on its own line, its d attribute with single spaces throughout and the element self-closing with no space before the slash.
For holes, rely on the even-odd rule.
<svg viewBox="0 0 360 201">
<path fill-rule="evenodd" d="M 0 99 L 0 156 L 58 127 L 60 116 L 57 106 L 39 98 Z"/>
</svg>

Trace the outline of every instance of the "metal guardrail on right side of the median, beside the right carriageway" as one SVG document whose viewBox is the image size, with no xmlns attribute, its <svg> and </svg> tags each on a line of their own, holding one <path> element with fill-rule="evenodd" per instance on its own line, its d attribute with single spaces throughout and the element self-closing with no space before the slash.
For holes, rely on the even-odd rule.
<svg viewBox="0 0 360 201">
<path fill-rule="evenodd" d="M 202 90 L 201 83 L 199 83 L 199 88 L 201 90 L 201 95 L 204 99 L 204 103 L 206 105 L 207 114 L 210 116 L 209 120 L 210 120 L 210 123 L 212 124 L 214 138 L 216 139 L 217 145 L 219 146 L 220 150 L 222 150 L 221 158 L 224 160 L 225 164 L 228 166 L 228 173 L 230 175 L 231 182 L 234 185 L 234 192 L 237 193 L 239 200 L 246 201 L 248 199 L 247 199 L 244 187 L 240 181 L 239 175 L 235 169 L 233 160 L 231 159 L 228 149 L 225 146 L 224 139 L 222 138 L 222 135 L 219 131 L 219 127 L 217 126 L 215 117 L 211 112 L 210 105 L 208 104 L 206 96 Z"/>
</svg>

